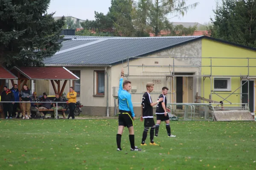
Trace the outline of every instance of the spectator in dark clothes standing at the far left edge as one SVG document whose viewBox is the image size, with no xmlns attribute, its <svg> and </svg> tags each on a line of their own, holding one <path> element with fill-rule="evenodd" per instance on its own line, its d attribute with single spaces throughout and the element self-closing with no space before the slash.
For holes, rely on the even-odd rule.
<svg viewBox="0 0 256 170">
<path fill-rule="evenodd" d="M 3 92 L 1 93 L 1 100 L 2 102 L 8 102 L 8 103 L 3 103 L 3 112 L 5 114 L 6 119 L 8 119 L 7 112 L 9 113 L 9 119 L 12 119 L 12 107 L 13 107 L 13 102 L 14 96 L 11 90 L 7 88 L 7 86 L 3 87 Z"/>
</svg>

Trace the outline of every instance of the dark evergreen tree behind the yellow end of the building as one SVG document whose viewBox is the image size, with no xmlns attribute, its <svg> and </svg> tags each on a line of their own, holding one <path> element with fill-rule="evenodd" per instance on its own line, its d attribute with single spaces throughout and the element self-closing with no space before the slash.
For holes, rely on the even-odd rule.
<svg viewBox="0 0 256 170">
<path fill-rule="evenodd" d="M 211 37 L 256 48 L 256 1 L 222 0 L 208 27 Z"/>
</svg>

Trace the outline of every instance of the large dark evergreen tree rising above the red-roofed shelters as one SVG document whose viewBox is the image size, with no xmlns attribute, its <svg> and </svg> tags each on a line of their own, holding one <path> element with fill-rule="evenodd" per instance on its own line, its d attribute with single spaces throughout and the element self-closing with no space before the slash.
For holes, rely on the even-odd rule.
<svg viewBox="0 0 256 170">
<path fill-rule="evenodd" d="M 47 14 L 50 0 L 0 0 L 0 64 L 40 66 L 61 47 L 64 17 Z"/>
</svg>

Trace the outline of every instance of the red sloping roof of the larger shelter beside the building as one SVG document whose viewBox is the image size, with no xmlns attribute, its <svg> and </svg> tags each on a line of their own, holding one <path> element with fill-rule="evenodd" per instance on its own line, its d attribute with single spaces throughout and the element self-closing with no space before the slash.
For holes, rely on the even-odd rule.
<svg viewBox="0 0 256 170">
<path fill-rule="evenodd" d="M 46 79 L 46 80 L 76 80 L 79 79 L 75 74 L 64 67 L 14 67 L 13 72 L 20 72 L 27 79 Z"/>
</svg>

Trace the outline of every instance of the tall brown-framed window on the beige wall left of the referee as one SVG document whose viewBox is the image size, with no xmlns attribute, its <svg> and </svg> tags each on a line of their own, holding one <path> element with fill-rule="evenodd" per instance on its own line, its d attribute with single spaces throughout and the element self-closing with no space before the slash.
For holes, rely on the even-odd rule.
<svg viewBox="0 0 256 170">
<path fill-rule="evenodd" d="M 105 71 L 94 71 L 94 94 L 105 94 Z"/>
</svg>

